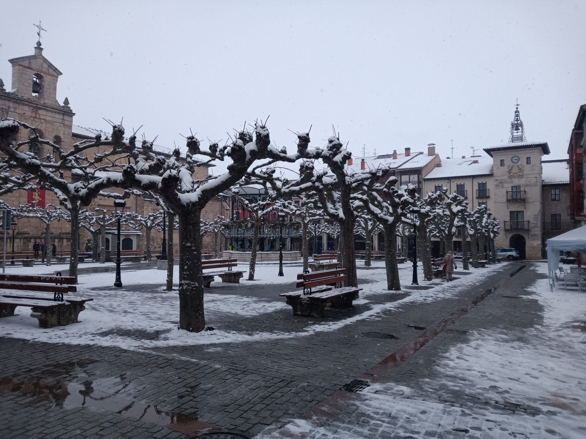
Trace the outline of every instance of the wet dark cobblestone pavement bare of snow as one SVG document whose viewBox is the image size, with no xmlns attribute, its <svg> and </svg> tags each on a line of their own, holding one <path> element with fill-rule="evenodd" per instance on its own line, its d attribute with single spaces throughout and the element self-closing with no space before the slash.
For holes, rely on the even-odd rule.
<svg viewBox="0 0 586 439">
<path fill-rule="evenodd" d="M 183 438 L 190 435 L 175 430 L 189 430 L 194 420 L 200 422 L 196 429 L 211 424 L 246 431 L 250 436 L 267 428 L 276 430 L 328 400 L 340 387 L 417 337 L 421 328 L 430 328 L 454 310 L 469 306 L 483 291 L 509 279 L 510 272 L 519 266 L 505 265 L 475 287 L 461 289 L 445 299 L 407 304 L 399 310 L 383 311 L 371 320 L 304 337 L 142 351 L 0 337 L 1 437 Z M 509 281 L 507 290 L 514 287 L 520 294 L 535 276 L 530 270 L 521 270 Z M 267 287 L 274 297 L 275 286 Z M 246 288 L 259 297 L 265 294 L 257 286 Z M 445 288 L 458 290 L 457 282 L 445 284 Z M 216 288 L 214 293 L 223 289 Z M 244 293 L 243 289 L 239 291 Z M 373 302 L 399 300 L 409 291 L 379 294 Z M 369 306 L 336 310 L 328 319 L 349 317 Z M 538 322 L 540 313 L 536 300 L 514 301 L 491 294 L 455 323 L 450 322 L 453 324 L 448 330 L 440 332 L 382 381 L 408 383 L 411 387 L 432 382 L 436 356 L 465 341 L 466 331 L 497 327 L 514 331 Z M 227 331 L 279 328 L 297 332 L 317 321 L 322 320 L 294 317 L 283 309 L 212 324 Z M 138 338 L 154 336 L 135 334 Z M 437 393 L 458 407 L 488 404 L 471 400 L 465 393 L 446 389 L 437 389 Z M 538 410 L 505 409 L 527 413 Z M 344 410 L 339 416 L 352 419 L 353 412 Z M 359 423 L 362 417 L 356 417 Z"/>
</svg>

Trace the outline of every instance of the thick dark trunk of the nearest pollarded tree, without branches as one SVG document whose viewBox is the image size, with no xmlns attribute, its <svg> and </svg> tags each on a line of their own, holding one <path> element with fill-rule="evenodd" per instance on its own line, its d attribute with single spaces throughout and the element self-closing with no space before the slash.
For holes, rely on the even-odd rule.
<svg viewBox="0 0 586 439">
<path fill-rule="evenodd" d="M 179 329 L 203 331 L 201 208 L 190 205 L 179 215 Z"/>
</svg>

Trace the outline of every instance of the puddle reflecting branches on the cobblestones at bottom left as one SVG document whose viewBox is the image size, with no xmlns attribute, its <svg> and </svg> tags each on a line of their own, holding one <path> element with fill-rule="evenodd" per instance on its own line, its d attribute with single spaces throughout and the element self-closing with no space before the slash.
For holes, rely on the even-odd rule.
<svg viewBox="0 0 586 439">
<path fill-rule="evenodd" d="M 9 378 L 0 378 L 0 390 L 52 400 L 55 406 L 66 409 L 74 407 L 106 409 L 122 416 L 159 424 L 184 434 L 195 434 L 198 431 L 210 429 L 217 430 L 218 427 L 199 421 L 194 417 L 161 410 L 151 404 L 144 404 L 118 396 L 131 389 L 130 382 L 125 382 L 125 379 L 126 377 L 121 375 L 103 380 L 87 380 L 78 384 L 40 382 L 39 380 L 18 382 Z M 98 386 L 101 387 L 101 390 L 96 390 L 95 387 Z"/>
</svg>

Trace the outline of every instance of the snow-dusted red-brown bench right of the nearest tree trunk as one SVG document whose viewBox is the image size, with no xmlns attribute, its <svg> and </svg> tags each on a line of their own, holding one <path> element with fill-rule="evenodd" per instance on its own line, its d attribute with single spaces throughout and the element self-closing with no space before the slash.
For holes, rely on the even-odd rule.
<svg viewBox="0 0 586 439">
<path fill-rule="evenodd" d="M 362 288 L 342 287 L 346 280 L 346 269 L 326 270 L 297 275 L 297 287 L 302 291 L 281 293 L 287 304 L 293 308 L 293 314 L 316 315 L 323 317 L 325 308 L 350 308 L 352 301 L 359 298 Z"/>
</svg>

